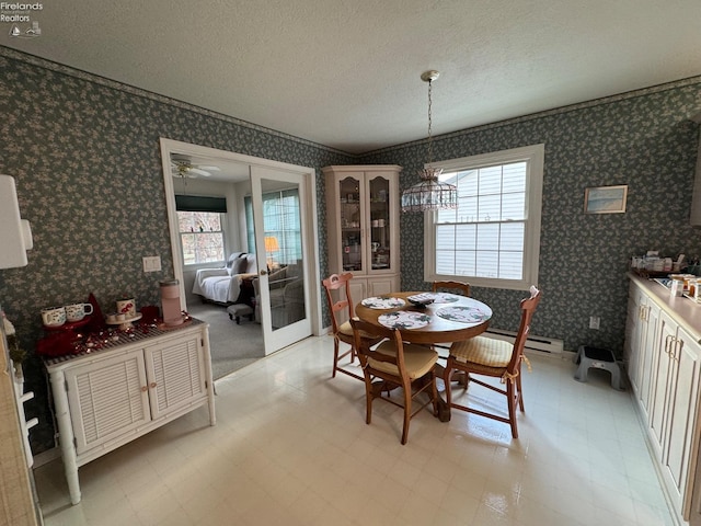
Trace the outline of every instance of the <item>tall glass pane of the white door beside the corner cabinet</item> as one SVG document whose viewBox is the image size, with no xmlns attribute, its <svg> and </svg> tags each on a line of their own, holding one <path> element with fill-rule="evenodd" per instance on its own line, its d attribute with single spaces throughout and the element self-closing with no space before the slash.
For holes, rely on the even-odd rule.
<svg viewBox="0 0 701 526">
<path fill-rule="evenodd" d="M 307 317 L 299 187 L 263 179 L 263 228 L 273 331 Z"/>
</svg>

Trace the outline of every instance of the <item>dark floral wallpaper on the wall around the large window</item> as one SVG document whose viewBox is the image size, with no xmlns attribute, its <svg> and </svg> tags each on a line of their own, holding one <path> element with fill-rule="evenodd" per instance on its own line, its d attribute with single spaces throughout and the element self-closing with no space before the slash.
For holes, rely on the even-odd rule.
<svg viewBox="0 0 701 526">
<path fill-rule="evenodd" d="M 531 333 L 622 356 L 630 258 L 647 250 L 676 259 L 701 256 L 689 225 L 701 78 L 563 107 L 434 138 L 436 160 L 545 145 L 540 268 L 543 294 Z M 426 147 L 400 145 L 365 156 L 366 163 L 404 167 L 402 188 L 418 181 Z M 628 185 L 625 214 L 584 214 L 589 186 Z M 423 218 L 402 215 L 402 288 L 426 289 Z M 495 315 L 492 327 L 515 331 L 524 291 L 473 287 Z M 600 317 L 599 330 L 588 328 Z"/>
</svg>

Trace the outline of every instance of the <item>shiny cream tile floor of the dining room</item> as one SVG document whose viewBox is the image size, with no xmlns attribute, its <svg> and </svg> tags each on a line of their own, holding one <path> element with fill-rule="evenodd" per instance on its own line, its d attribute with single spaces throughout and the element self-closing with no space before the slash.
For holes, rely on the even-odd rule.
<svg viewBox="0 0 701 526">
<path fill-rule="evenodd" d="M 674 524 L 629 393 L 604 371 L 579 384 L 571 362 L 531 357 L 518 441 L 425 411 L 402 446 L 401 411 L 378 401 L 366 425 L 363 384 L 331 379 L 331 355 L 312 338 L 217 381 L 216 426 L 202 408 L 83 466 L 76 506 L 60 460 L 36 469 L 45 524 Z"/>
</svg>

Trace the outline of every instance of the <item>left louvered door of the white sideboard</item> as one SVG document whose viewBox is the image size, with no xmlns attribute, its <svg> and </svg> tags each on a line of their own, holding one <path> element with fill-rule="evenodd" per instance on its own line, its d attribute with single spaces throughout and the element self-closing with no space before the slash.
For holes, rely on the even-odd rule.
<svg viewBox="0 0 701 526">
<path fill-rule="evenodd" d="M 151 420 L 141 350 L 68 368 L 66 388 L 79 456 Z"/>
</svg>

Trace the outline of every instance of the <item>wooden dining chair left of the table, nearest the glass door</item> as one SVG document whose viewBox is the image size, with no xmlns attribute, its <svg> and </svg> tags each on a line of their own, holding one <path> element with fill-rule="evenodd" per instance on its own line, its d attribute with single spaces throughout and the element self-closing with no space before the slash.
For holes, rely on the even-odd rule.
<svg viewBox="0 0 701 526">
<path fill-rule="evenodd" d="M 332 274 L 321 283 L 326 290 L 326 300 L 329 301 L 329 311 L 331 312 L 331 327 L 333 332 L 333 371 L 332 378 L 336 377 L 336 373 L 343 373 L 344 375 L 352 376 L 358 380 L 363 380 L 363 376 L 353 373 L 352 370 L 344 369 L 338 365 L 338 362 L 346 356 L 350 357 L 350 364 L 355 362 L 357 356 L 355 347 L 355 338 L 353 335 L 353 327 L 350 327 L 349 320 L 354 318 L 353 298 L 350 297 L 350 279 L 353 279 L 353 273 L 346 272 L 345 274 Z M 338 299 L 334 299 L 334 294 L 338 295 Z M 342 321 L 341 317 L 345 313 L 347 320 Z M 372 343 L 379 342 L 381 339 L 370 339 Z M 345 352 L 341 352 L 341 343 L 345 343 L 350 346 Z"/>
</svg>

